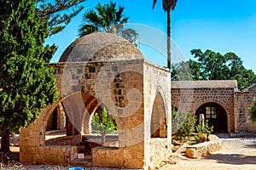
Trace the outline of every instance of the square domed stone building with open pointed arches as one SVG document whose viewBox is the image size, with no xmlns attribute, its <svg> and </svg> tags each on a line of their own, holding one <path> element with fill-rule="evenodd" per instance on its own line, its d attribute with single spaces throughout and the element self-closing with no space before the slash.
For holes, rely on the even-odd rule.
<svg viewBox="0 0 256 170">
<path fill-rule="evenodd" d="M 55 68 L 60 99 L 20 131 L 22 164 L 153 169 L 170 156 L 170 72 L 145 60 L 131 42 L 93 33 L 49 66 Z M 113 115 L 117 134 L 90 134 L 91 116 L 102 107 Z M 67 133 L 46 140 L 48 128 Z"/>
</svg>

